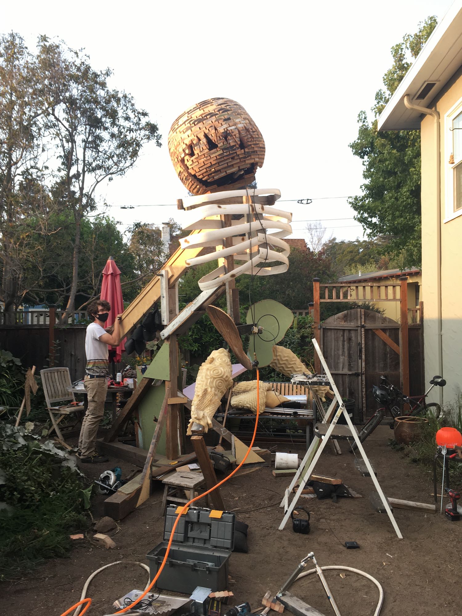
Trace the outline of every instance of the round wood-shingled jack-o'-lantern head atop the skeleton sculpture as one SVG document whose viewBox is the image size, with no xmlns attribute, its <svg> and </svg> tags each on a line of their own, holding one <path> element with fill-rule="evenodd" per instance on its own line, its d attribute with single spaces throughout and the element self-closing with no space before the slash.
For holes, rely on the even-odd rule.
<svg viewBox="0 0 462 616">
<path fill-rule="evenodd" d="M 192 105 L 172 124 L 168 149 L 178 177 L 194 195 L 251 184 L 263 165 L 265 142 L 235 100 Z"/>
</svg>

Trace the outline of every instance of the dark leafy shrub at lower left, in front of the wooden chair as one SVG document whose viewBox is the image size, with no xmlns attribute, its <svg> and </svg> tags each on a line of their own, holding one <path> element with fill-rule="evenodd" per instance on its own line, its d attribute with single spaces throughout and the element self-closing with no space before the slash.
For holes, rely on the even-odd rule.
<svg viewBox="0 0 462 616">
<path fill-rule="evenodd" d="M 0 423 L 0 580 L 64 556 L 70 533 L 88 525 L 91 491 L 67 452 Z"/>
</svg>

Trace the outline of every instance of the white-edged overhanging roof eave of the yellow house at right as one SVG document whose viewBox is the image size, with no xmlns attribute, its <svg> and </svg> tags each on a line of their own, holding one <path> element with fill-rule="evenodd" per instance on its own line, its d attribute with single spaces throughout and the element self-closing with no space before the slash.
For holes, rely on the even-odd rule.
<svg viewBox="0 0 462 616">
<path fill-rule="evenodd" d="M 462 65 L 462 0 L 455 0 L 431 33 L 378 119 L 379 131 L 419 129 L 421 112 L 404 104 L 429 107 Z"/>
</svg>

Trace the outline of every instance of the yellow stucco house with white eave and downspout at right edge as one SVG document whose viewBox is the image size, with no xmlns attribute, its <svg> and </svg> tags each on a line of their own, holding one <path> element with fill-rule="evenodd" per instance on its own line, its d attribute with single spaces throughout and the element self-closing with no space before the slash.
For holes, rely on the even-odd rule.
<svg viewBox="0 0 462 616">
<path fill-rule="evenodd" d="M 444 376 L 433 400 L 452 402 L 462 388 L 462 0 L 431 34 L 378 129 L 421 130 L 425 378 Z"/>
</svg>

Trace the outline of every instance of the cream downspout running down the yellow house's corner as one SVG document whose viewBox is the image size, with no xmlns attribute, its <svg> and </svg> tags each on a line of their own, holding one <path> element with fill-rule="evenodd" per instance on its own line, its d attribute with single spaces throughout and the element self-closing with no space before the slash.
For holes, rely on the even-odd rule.
<svg viewBox="0 0 462 616">
<path fill-rule="evenodd" d="M 436 237 L 437 237 L 437 270 L 436 270 L 436 288 L 438 295 L 437 302 L 437 320 L 438 320 L 438 373 L 443 376 L 443 320 L 442 320 L 442 298 L 441 298 L 441 131 L 440 131 L 440 114 L 436 109 L 420 107 L 411 103 L 411 97 L 406 94 L 404 104 L 408 109 L 419 111 L 425 115 L 431 115 L 434 119 L 435 137 L 436 137 L 436 201 L 437 201 L 437 222 L 436 222 Z M 443 403 L 443 388 L 439 388 L 439 403 Z"/>
</svg>

